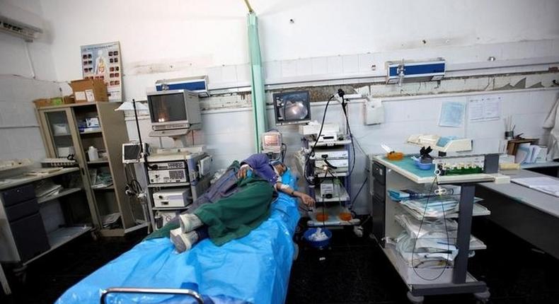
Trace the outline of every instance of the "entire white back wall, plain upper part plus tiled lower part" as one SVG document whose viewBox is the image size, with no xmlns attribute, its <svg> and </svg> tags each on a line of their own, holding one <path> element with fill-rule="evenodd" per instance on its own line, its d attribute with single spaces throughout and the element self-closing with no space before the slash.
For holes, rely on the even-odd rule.
<svg viewBox="0 0 559 304">
<path fill-rule="evenodd" d="M 450 66 L 486 63 L 488 56 L 497 57 L 497 63 L 557 56 L 559 50 L 559 21 L 556 18 L 559 3 L 554 0 L 541 0 L 537 4 L 522 0 L 490 3 L 437 0 L 429 4 L 366 0 L 250 2 L 260 20 L 267 80 L 299 77 L 304 81 L 312 75 L 371 73 L 371 64 L 379 67 L 376 74 L 381 75 L 384 62 L 402 57 L 427 59 L 442 56 L 449 60 Z M 35 0 L 26 0 L 24 4 L 35 10 L 41 9 Z M 43 54 L 49 58 L 52 55 L 52 63 L 39 60 L 42 63 L 35 65 L 44 68 L 37 68 L 41 71 L 38 75 L 54 73 L 54 78 L 59 81 L 81 78 L 80 45 L 118 40 L 122 48 L 127 98 L 144 98 L 146 87 L 153 86 L 157 79 L 178 76 L 207 74 L 211 86 L 248 84 L 250 72 L 243 1 L 40 0 L 40 4 L 47 29 L 43 39 L 49 47 L 35 52 L 34 56 Z M 289 19 L 294 19 L 294 23 Z M 40 46 L 33 42 L 33 47 L 40 49 Z M 0 45 L 0 49 L 3 47 Z M 18 47 L 13 49 L 21 50 Z M 19 51 L 2 52 L 10 56 L 23 54 Z M 14 62 L 13 66 L 18 69 L 25 68 L 25 61 L 21 57 L 16 59 L 4 61 Z M 502 93 L 507 104 L 503 107 L 503 114 L 517 115 L 517 128 L 522 127 L 526 135 L 540 136 L 543 113 L 554 102 L 554 94 L 556 91 L 545 90 Z M 502 134 L 496 122 L 493 122 L 495 126 L 491 125 L 493 123 L 478 123 L 462 129 L 437 127 L 434 113 L 438 113 L 442 100 L 463 98 L 434 96 L 388 101 L 385 103 L 386 123 L 374 127 L 362 125 L 361 107 L 357 103 L 350 105 L 350 115 L 357 117 L 352 120 L 352 129 L 367 153 L 381 152 L 379 142 L 410 151 L 410 147 L 402 143 L 405 136 L 417 130 L 471 136 L 476 151 L 492 151 Z M 313 107 L 314 117 L 321 115 L 322 107 Z M 329 116 L 333 115 L 332 119 L 339 121 L 334 112 L 329 112 Z M 215 167 L 223 167 L 252 152 L 250 108 L 212 110 L 202 117 L 204 130 L 197 132 L 196 141 L 203 140 L 207 144 L 215 156 Z M 486 133 L 485 127 L 495 128 Z M 129 137 L 134 138 L 133 123 L 128 122 L 128 129 Z M 147 121 L 142 120 L 142 132 L 148 130 Z M 282 131 L 290 150 L 299 146 L 293 128 L 282 128 Z M 144 139 L 146 137 L 144 134 Z M 360 156 L 357 161 L 357 168 L 363 168 L 364 158 Z M 362 180 L 362 176 L 356 175 L 354 187 L 359 187 Z M 359 204 L 361 209 L 367 209 L 364 197 L 359 199 Z"/>
</svg>

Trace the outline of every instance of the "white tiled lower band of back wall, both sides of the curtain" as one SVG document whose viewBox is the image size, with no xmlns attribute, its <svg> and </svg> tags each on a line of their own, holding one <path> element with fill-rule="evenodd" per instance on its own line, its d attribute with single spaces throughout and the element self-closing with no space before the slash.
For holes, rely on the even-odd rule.
<svg viewBox="0 0 559 304">
<path fill-rule="evenodd" d="M 480 95 L 482 95 L 480 93 Z M 516 131 L 524 132 L 524 136 L 535 136 L 546 142 L 546 131 L 541 128 L 543 120 L 559 97 L 559 90 L 529 90 L 507 91 L 497 93 L 502 98 L 502 117 L 512 115 L 517 124 Z M 473 139 L 473 153 L 497 152 L 499 142 L 504 133 L 502 120 L 490 122 L 466 122 L 461 128 L 439 127 L 439 111 L 444 101 L 466 102 L 471 96 L 476 95 L 432 95 L 423 98 L 393 99 L 384 101 L 384 124 L 366 126 L 363 123 L 363 103 L 350 102 L 350 127 L 355 138 L 359 141 L 366 153 L 383 153 L 380 144 L 384 143 L 398 151 L 415 153 L 417 148 L 405 144 L 405 139 L 410 134 L 432 133 L 440 135 L 466 136 Z M 313 119 L 321 120 L 324 103 L 314 105 L 311 110 Z M 467 112 L 467 111 L 466 111 Z M 330 103 L 326 122 L 342 122 L 340 105 Z M 269 121 L 273 122 L 273 114 L 268 110 Z M 137 131 L 133 120 L 127 122 L 129 138 L 136 139 Z M 279 127 L 288 145 L 288 154 L 294 153 L 301 147 L 300 136 L 296 126 Z M 158 139 L 151 139 L 149 134 L 149 120 L 142 117 L 142 138 L 151 144 L 159 146 Z M 253 153 L 253 122 L 250 108 L 238 110 L 212 110 L 202 114 L 202 131 L 197 131 L 195 143 L 207 145 L 209 153 L 214 156 L 214 170 L 224 168 L 232 160 L 242 160 Z M 171 141 L 164 141 L 165 146 Z M 352 191 L 357 193 L 365 179 L 365 157 L 359 150 L 356 151 L 356 167 L 352 176 Z M 356 200 L 356 211 L 367 214 L 366 191 L 362 191 Z"/>
</svg>

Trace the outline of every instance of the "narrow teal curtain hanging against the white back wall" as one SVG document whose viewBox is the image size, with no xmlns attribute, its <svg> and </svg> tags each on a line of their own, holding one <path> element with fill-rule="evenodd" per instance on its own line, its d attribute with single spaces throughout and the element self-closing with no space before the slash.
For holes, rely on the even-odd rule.
<svg viewBox="0 0 559 304">
<path fill-rule="evenodd" d="M 256 151 L 260 152 L 260 135 L 266 131 L 266 95 L 262 73 L 262 57 L 260 57 L 260 40 L 258 39 L 258 18 L 255 13 L 248 13 L 248 52 L 250 54 L 250 74 L 252 79 L 253 115 L 255 126 Z"/>
</svg>

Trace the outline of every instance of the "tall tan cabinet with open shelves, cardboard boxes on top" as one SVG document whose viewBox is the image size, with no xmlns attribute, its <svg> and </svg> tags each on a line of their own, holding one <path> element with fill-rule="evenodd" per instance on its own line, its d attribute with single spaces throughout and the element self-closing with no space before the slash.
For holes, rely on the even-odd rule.
<svg viewBox="0 0 559 304">
<path fill-rule="evenodd" d="M 103 236 L 122 236 L 147 225 L 139 221 L 142 208 L 134 208 L 125 194 L 122 143 L 128 134 L 124 114 L 115 112 L 119 105 L 92 102 L 36 108 L 47 157 L 76 160 L 93 223 Z M 90 147 L 93 153 L 88 153 Z M 104 181 L 98 182 L 101 177 Z"/>
</svg>

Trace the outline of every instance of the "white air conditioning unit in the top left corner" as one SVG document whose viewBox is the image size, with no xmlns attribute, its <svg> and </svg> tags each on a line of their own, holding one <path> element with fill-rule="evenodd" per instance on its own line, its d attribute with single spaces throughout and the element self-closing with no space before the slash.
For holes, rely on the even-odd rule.
<svg viewBox="0 0 559 304">
<path fill-rule="evenodd" d="M 23 8 L 0 1 L 0 33 L 32 42 L 42 33 L 42 18 Z"/>
</svg>

